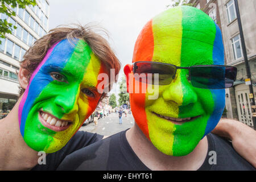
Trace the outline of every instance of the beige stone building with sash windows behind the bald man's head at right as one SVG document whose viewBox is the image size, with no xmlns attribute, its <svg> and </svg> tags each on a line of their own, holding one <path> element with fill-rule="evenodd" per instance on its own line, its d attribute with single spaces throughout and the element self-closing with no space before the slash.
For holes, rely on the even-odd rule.
<svg viewBox="0 0 256 182">
<path fill-rule="evenodd" d="M 243 59 L 240 31 L 237 22 L 234 0 L 191 0 L 195 6 L 207 13 L 221 28 L 225 49 L 225 64 L 237 67 L 237 81 L 230 89 L 226 89 L 225 115 L 227 118 L 238 119 L 253 127 L 251 106 L 249 101 L 249 86 L 245 84 L 247 78 L 245 61 Z M 251 82 L 254 95 L 256 82 L 256 16 L 255 1 L 238 1 L 240 9 L 243 36 L 245 37 L 246 52 L 251 71 Z"/>
</svg>

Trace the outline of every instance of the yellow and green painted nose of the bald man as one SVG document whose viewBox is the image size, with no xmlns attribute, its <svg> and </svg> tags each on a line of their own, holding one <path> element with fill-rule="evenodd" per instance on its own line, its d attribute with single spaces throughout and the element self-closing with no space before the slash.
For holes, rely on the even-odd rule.
<svg viewBox="0 0 256 182">
<path fill-rule="evenodd" d="M 185 106 L 197 102 L 197 94 L 188 82 L 185 71 L 177 69 L 176 78 L 163 91 L 165 101 L 173 101 L 178 106 Z"/>
</svg>

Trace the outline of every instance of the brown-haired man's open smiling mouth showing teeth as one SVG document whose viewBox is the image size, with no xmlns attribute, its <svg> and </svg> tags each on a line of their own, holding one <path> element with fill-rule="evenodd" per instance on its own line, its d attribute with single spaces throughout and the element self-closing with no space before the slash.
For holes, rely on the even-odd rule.
<svg viewBox="0 0 256 182">
<path fill-rule="evenodd" d="M 71 121 L 61 120 L 54 115 L 46 113 L 42 110 L 39 111 L 39 120 L 44 127 L 47 127 L 53 131 L 66 130 L 72 124 Z"/>
</svg>

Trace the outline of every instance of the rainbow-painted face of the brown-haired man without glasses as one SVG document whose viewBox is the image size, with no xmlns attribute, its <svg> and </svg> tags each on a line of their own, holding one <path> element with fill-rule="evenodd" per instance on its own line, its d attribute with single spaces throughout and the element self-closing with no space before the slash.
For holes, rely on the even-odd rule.
<svg viewBox="0 0 256 182">
<path fill-rule="evenodd" d="M 84 40 L 52 46 L 19 105 L 20 133 L 36 151 L 60 150 L 96 108 L 103 67 Z"/>
</svg>

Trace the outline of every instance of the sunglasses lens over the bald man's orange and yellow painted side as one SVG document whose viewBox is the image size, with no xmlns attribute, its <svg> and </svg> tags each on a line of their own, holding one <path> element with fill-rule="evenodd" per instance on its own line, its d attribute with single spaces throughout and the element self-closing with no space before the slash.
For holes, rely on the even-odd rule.
<svg viewBox="0 0 256 182">
<path fill-rule="evenodd" d="M 176 67 L 161 63 L 138 62 L 134 64 L 135 80 L 152 84 L 168 85 L 175 75 Z"/>
</svg>

